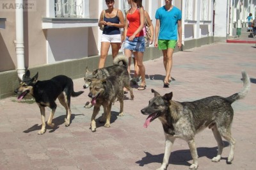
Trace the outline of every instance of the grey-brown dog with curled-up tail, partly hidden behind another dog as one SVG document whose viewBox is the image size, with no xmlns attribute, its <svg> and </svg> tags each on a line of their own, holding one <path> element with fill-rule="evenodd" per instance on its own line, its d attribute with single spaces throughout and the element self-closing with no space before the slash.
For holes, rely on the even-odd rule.
<svg viewBox="0 0 256 170">
<path fill-rule="evenodd" d="M 120 63 L 122 62 L 122 65 Z M 113 61 L 113 66 L 107 66 L 104 68 L 99 68 L 90 72 L 86 67 L 86 72 L 84 75 L 84 86 L 83 88 L 88 88 L 92 82 L 92 79 L 106 79 L 109 76 L 118 77 L 119 81 L 122 81 L 123 87 L 130 91 L 131 99 L 134 98 L 132 93 L 132 88 L 130 86 L 130 75 L 127 71 L 128 59 L 125 56 L 119 55 Z M 85 105 L 86 108 L 92 107 L 92 104 Z"/>
</svg>

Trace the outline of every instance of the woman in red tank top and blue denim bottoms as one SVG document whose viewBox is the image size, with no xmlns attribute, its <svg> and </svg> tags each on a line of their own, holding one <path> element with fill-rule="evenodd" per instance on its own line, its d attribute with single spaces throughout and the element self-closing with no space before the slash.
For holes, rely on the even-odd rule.
<svg viewBox="0 0 256 170">
<path fill-rule="evenodd" d="M 137 53 L 137 64 L 141 75 L 141 84 L 138 90 L 145 89 L 145 66 L 143 65 L 143 54 L 145 52 L 145 39 L 143 27 L 145 22 L 145 13 L 142 6 L 142 0 L 127 0 L 131 5 L 125 20 L 125 44 L 124 54 L 129 58 L 128 72 L 130 73 L 132 52 Z M 137 70 L 135 70 L 137 71 Z"/>
</svg>

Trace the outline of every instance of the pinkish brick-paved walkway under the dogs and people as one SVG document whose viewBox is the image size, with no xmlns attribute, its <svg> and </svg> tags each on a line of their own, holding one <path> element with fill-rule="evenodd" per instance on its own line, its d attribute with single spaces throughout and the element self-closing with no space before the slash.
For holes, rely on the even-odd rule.
<svg viewBox="0 0 256 170">
<path fill-rule="evenodd" d="M 163 88 L 163 58 L 147 61 L 147 89 L 138 91 L 134 87 L 134 100 L 126 95 L 124 101 L 125 115 L 117 116 L 116 102 L 111 112 L 111 128 L 99 124 L 94 133 L 89 129 L 92 108 L 83 107 L 89 101 L 88 89 L 71 100 L 70 127 L 65 127 L 65 109 L 58 103 L 53 120 L 56 128 L 47 129 L 44 135 L 37 135 L 41 120 L 35 103 L 15 102 L 15 97 L 0 100 L 0 169 L 157 169 L 163 160 L 163 127 L 159 120 L 154 120 L 143 128 L 147 116 L 140 112 L 153 97 L 151 89 L 162 95 L 173 91 L 173 100 L 180 102 L 212 95 L 228 97 L 243 87 L 241 70 L 246 70 L 252 83 L 246 98 L 232 104 L 234 162 L 226 164 L 230 149 L 227 142 L 220 162 L 211 162 L 217 153 L 217 143 L 211 130 L 205 129 L 196 135 L 198 169 L 255 169 L 255 54 L 255 45 L 246 43 L 216 43 L 177 52 L 172 69 L 175 81 L 170 88 Z M 74 85 L 75 91 L 81 90 L 83 79 L 74 80 Z M 48 118 L 49 109 L 46 115 Z M 192 158 L 188 144 L 177 139 L 169 162 L 168 169 L 189 169 Z"/>
</svg>

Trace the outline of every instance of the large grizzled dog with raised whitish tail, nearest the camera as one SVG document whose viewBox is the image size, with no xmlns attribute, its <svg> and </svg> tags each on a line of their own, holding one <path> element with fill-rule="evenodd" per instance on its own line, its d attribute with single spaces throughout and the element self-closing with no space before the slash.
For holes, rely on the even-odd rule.
<svg viewBox="0 0 256 170">
<path fill-rule="evenodd" d="M 163 124 L 166 142 L 163 164 L 159 169 L 167 168 L 171 149 L 176 138 L 188 142 L 193 158 L 190 169 L 196 169 L 198 167 L 198 155 L 195 146 L 195 134 L 207 127 L 212 129 L 218 143 L 218 154 L 212 158 L 212 162 L 220 161 L 224 147 L 221 137 L 230 143 L 231 148 L 227 163 L 232 162 L 236 141 L 230 131 L 234 116 L 231 104 L 244 98 L 250 90 L 250 78 L 246 72 L 242 72 L 242 75 L 244 88 L 241 92 L 227 98 L 213 96 L 194 102 L 177 102 L 172 100 L 172 92 L 161 96 L 152 89 L 155 97 L 149 101 L 147 107 L 141 110 L 141 113 L 149 115 L 144 127 L 147 127 L 156 118 L 159 118 Z"/>
</svg>

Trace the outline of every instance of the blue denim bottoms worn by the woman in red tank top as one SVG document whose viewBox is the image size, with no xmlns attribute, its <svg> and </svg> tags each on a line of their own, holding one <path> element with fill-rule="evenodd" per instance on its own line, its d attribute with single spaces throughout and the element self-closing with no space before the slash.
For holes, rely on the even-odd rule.
<svg viewBox="0 0 256 170">
<path fill-rule="evenodd" d="M 145 52 L 145 38 L 144 36 L 138 36 L 130 42 L 129 37 L 125 38 L 124 49 L 129 49 L 136 52 Z"/>
</svg>

